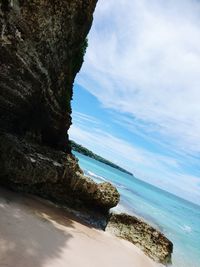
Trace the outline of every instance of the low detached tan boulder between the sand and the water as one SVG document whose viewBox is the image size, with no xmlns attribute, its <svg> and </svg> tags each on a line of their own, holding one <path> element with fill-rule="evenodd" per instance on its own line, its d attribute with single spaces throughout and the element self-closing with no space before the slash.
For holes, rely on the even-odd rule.
<svg viewBox="0 0 200 267">
<path fill-rule="evenodd" d="M 127 214 L 111 214 L 106 230 L 140 247 L 153 260 L 171 263 L 173 244 L 147 223 Z"/>
</svg>

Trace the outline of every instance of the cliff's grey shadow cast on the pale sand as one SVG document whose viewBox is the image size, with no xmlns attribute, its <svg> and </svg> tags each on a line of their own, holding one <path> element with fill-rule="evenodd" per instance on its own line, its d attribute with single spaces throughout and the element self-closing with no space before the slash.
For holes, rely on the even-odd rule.
<svg viewBox="0 0 200 267">
<path fill-rule="evenodd" d="M 1 267 L 59 262 L 72 228 L 73 221 L 59 208 L 0 188 Z"/>
</svg>

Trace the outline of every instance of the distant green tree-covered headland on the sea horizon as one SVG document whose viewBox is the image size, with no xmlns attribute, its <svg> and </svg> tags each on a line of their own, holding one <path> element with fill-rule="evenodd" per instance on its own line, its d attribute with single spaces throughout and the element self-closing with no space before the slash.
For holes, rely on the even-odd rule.
<svg viewBox="0 0 200 267">
<path fill-rule="evenodd" d="M 111 162 L 111 161 L 109 161 L 107 159 L 104 159 L 103 157 L 93 153 L 91 150 L 87 149 L 86 147 L 83 147 L 82 145 L 79 145 L 79 144 L 77 144 L 76 142 L 74 142 L 72 140 L 70 140 L 70 144 L 71 144 L 72 150 L 77 151 L 77 152 L 79 152 L 79 153 L 81 153 L 81 154 L 83 154 L 85 156 L 88 156 L 88 157 L 90 157 L 92 159 L 95 159 L 95 160 L 100 161 L 100 162 L 102 162 L 102 163 L 104 163 L 106 165 L 109 165 L 109 166 L 111 166 L 111 167 L 113 167 L 113 168 L 115 168 L 117 170 L 120 170 L 121 172 L 124 172 L 124 173 L 127 173 L 127 174 L 133 176 L 133 174 L 131 172 L 129 172 L 129 171 L 121 168 L 120 166 L 114 164 L 113 162 Z"/>
</svg>

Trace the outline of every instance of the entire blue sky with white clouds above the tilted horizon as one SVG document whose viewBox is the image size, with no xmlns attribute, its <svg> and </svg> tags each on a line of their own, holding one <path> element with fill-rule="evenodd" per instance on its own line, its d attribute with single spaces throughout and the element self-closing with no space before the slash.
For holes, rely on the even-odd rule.
<svg viewBox="0 0 200 267">
<path fill-rule="evenodd" d="M 99 0 L 70 138 L 200 205 L 200 1 Z"/>
</svg>

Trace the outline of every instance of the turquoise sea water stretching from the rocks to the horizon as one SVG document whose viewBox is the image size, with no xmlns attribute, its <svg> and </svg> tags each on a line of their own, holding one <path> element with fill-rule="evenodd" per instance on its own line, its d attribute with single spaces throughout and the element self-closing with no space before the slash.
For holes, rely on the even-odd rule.
<svg viewBox="0 0 200 267">
<path fill-rule="evenodd" d="M 200 206 L 74 152 L 85 174 L 110 181 L 121 193 L 120 211 L 138 215 L 174 244 L 173 267 L 200 267 Z"/>
</svg>

